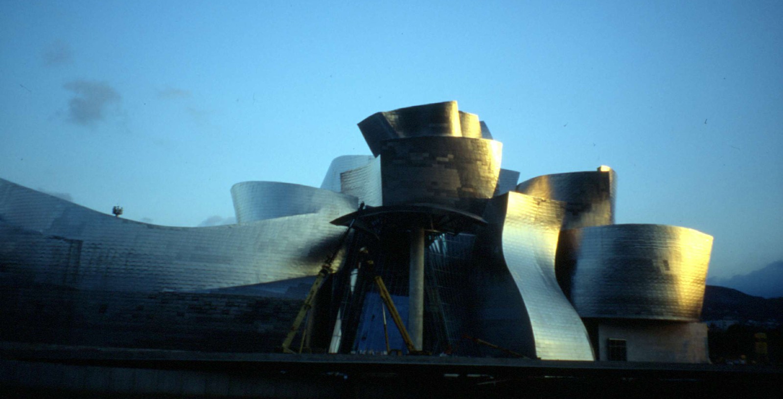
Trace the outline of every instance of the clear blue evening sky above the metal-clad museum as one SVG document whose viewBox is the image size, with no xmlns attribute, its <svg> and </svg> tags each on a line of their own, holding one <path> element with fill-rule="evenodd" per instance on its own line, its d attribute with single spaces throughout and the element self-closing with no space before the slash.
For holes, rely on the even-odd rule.
<svg viewBox="0 0 783 399">
<path fill-rule="evenodd" d="M 783 259 L 783 2 L 0 2 L 0 178 L 160 225 L 320 185 L 355 124 L 456 100 L 521 180 L 619 174 L 618 223 Z"/>
</svg>

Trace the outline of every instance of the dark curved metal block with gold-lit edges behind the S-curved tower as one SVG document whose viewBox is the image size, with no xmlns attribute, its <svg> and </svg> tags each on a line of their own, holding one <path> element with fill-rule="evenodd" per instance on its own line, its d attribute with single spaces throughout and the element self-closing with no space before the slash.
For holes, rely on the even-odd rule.
<svg viewBox="0 0 783 399">
<path fill-rule="evenodd" d="M 517 185 L 529 196 L 568 203 L 563 229 L 615 224 L 617 174 L 610 167 L 597 171 L 545 174 Z"/>
</svg>

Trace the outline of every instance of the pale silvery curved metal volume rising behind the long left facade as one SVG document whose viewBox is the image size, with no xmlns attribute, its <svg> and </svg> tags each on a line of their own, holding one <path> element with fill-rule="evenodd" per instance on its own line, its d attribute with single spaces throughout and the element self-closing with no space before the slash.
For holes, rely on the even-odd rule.
<svg viewBox="0 0 783 399">
<path fill-rule="evenodd" d="M 236 183 L 231 188 L 231 198 L 240 224 L 297 214 L 323 213 L 337 217 L 358 207 L 354 196 L 280 182 Z"/>
</svg>

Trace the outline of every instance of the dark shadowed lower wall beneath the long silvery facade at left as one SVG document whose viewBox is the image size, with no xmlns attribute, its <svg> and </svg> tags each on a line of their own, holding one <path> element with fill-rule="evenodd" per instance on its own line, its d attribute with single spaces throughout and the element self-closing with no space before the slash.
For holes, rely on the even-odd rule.
<svg viewBox="0 0 783 399">
<path fill-rule="evenodd" d="M 96 347 L 271 352 L 302 300 L 226 293 L 0 286 L 0 340 Z"/>
</svg>

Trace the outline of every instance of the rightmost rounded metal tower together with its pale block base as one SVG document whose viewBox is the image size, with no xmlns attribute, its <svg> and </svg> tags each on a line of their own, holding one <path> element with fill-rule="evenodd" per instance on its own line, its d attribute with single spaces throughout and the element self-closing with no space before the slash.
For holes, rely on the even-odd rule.
<svg viewBox="0 0 783 399">
<path fill-rule="evenodd" d="M 713 237 L 665 225 L 562 232 L 557 272 L 599 360 L 709 362 L 698 322 Z"/>
</svg>

